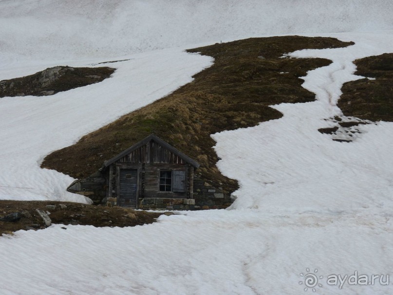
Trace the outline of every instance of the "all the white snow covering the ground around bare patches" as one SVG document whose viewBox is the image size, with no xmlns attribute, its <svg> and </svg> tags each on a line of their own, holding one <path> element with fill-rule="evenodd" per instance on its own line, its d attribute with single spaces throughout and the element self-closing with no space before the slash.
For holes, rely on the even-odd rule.
<svg viewBox="0 0 393 295">
<path fill-rule="evenodd" d="M 352 61 L 393 52 L 392 11 L 385 0 L 0 1 L 0 80 L 130 59 L 98 84 L 0 98 L 2 199 L 86 201 L 65 192 L 72 178 L 39 169 L 42 158 L 189 82 L 212 62 L 184 53 L 190 44 L 286 33 L 356 42 L 291 54 L 334 61 L 305 78 L 317 101 L 213 135 L 220 170 L 241 184 L 233 210 L 1 237 L 0 294 L 393 294 L 393 277 L 383 285 L 393 275 L 393 123 L 362 126 L 352 143 L 318 132 L 340 114 L 342 83 L 359 78 Z M 356 271 L 366 285 L 328 281 Z M 372 275 L 384 277 L 368 284 Z"/>
</svg>

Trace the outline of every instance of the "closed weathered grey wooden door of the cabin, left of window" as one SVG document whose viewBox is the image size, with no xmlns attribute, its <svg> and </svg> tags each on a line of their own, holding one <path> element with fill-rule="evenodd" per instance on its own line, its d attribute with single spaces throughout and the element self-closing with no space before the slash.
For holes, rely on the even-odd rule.
<svg viewBox="0 0 393 295">
<path fill-rule="evenodd" d="M 120 169 L 119 206 L 136 208 L 138 197 L 138 170 Z"/>
</svg>

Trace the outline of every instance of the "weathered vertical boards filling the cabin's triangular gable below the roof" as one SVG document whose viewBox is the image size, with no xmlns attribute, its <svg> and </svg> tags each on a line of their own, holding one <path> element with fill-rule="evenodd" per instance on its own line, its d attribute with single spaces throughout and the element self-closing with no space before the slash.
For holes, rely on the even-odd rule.
<svg viewBox="0 0 393 295">
<path fill-rule="evenodd" d="M 130 154 L 120 158 L 117 163 L 186 164 L 184 159 L 175 155 L 153 140 L 132 151 Z"/>
</svg>

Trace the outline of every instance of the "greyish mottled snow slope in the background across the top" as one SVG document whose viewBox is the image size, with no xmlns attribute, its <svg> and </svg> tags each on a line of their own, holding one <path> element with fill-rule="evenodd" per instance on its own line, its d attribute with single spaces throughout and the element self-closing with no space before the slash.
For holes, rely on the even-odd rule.
<svg viewBox="0 0 393 295">
<path fill-rule="evenodd" d="M 390 0 L 1 1 L 0 51 L 12 59 L 75 59 L 263 35 L 386 30 L 392 10 Z"/>
</svg>

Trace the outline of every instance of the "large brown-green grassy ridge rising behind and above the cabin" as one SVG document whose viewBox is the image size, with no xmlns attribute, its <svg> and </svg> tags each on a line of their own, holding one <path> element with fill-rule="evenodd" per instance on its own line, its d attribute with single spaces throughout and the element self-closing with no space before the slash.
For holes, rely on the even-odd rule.
<svg viewBox="0 0 393 295">
<path fill-rule="evenodd" d="M 331 61 L 280 57 L 305 48 L 350 44 L 333 38 L 286 36 L 244 39 L 189 50 L 213 57 L 214 65 L 169 96 L 52 153 L 44 159 L 42 167 L 75 178 L 87 177 L 105 159 L 154 133 L 197 160 L 201 164 L 197 172 L 203 179 L 231 193 L 238 184 L 217 169 L 218 158 L 212 148 L 215 142 L 210 134 L 281 118 L 281 113 L 268 105 L 313 101 L 315 95 L 301 87 L 303 80 L 299 77 Z"/>
</svg>

